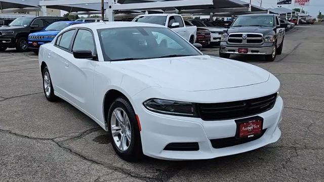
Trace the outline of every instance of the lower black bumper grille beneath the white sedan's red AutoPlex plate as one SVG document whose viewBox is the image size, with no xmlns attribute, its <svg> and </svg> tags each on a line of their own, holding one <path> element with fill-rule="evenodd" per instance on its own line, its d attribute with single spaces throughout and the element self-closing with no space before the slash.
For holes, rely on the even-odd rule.
<svg viewBox="0 0 324 182">
<path fill-rule="evenodd" d="M 221 149 L 221 148 L 225 148 L 225 147 L 232 147 L 235 145 L 245 144 L 245 143 L 260 139 L 266 130 L 267 129 L 263 129 L 261 134 L 253 136 L 251 138 L 236 139 L 235 136 L 233 136 L 230 138 L 213 139 L 213 140 L 211 140 L 211 143 L 212 143 L 213 148 L 215 148 L 215 149 Z"/>
</svg>

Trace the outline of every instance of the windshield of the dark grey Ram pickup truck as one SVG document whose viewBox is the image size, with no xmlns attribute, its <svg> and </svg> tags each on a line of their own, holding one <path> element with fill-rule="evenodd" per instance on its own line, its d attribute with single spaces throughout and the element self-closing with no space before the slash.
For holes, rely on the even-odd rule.
<svg viewBox="0 0 324 182">
<path fill-rule="evenodd" d="M 239 16 L 232 24 L 232 27 L 240 26 L 274 26 L 273 16 Z"/>
</svg>

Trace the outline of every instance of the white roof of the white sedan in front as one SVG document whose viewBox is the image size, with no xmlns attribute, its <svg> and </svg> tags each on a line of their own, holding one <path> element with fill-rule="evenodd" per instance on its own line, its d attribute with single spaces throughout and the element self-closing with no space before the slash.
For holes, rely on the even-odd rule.
<svg viewBox="0 0 324 182">
<path fill-rule="evenodd" d="M 151 24 L 151 23 L 139 23 L 139 22 L 96 22 L 96 23 L 84 23 L 69 26 L 70 28 L 89 28 L 92 30 L 105 29 L 105 28 L 120 28 L 120 27 L 165 27 L 162 25 Z M 65 30 L 65 29 L 64 29 Z"/>
</svg>

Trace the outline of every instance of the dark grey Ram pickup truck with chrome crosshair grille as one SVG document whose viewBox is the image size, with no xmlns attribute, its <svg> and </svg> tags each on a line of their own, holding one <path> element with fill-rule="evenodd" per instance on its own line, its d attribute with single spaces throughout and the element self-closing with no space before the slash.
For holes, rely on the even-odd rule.
<svg viewBox="0 0 324 182">
<path fill-rule="evenodd" d="M 282 53 L 284 37 L 285 27 L 280 25 L 277 15 L 240 15 L 222 35 L 219 56 L 264 55 L 266 61 L 274 61 Z"/>
</svg>

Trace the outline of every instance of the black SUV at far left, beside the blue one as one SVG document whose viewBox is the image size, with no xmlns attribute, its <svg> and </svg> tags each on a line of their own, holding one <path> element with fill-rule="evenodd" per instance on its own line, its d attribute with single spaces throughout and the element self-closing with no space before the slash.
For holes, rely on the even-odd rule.
<svg viewBox="0 0 324 182">
<path fill-rule="evenodd" d="M 19 52 L 28 51 L 28 35 L 57 21 L 66 21 L 66 17 L 20 17 L 9 26 L 0 27 L 0 51 L 16 48 Z"/>
</svg>

